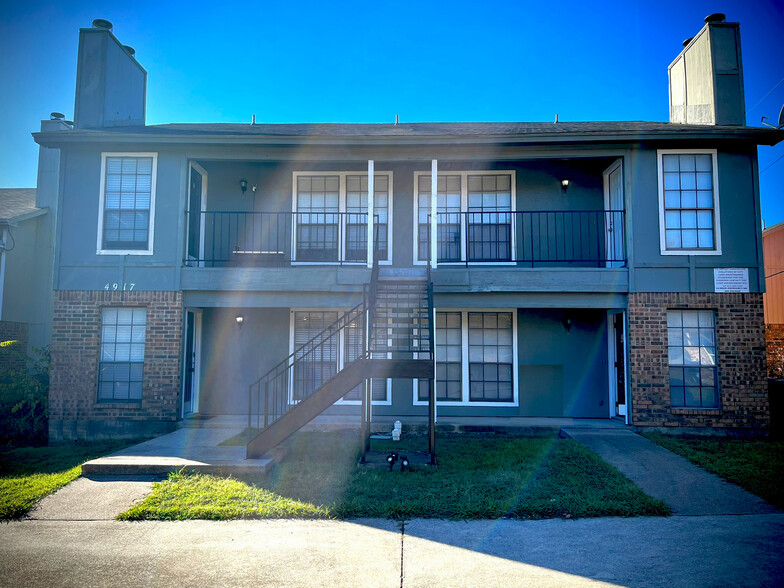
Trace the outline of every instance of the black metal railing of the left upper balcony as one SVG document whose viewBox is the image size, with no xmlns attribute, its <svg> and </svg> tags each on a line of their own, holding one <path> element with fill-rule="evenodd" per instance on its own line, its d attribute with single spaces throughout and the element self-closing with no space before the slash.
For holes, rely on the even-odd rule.
<svg viewBox="0 0 784 588">
<path fill-rule="evenodd" d="M 367 213 L 186 211 L 185 218 L 187 266 L 367 262 Z M 387 259 L 388 225 L 378 216 L 374 234 L 376 254 Z"/>
</svg>

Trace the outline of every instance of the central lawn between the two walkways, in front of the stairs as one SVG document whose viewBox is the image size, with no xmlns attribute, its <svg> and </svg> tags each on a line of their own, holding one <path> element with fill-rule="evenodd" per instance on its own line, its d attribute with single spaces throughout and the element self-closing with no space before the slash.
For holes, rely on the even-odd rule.
<svg viewBox="0 0 784 588">
<path fill-rule="evenodd" d="M 405 453 L 426 439 L 374 442 Z M 578 443 L 555 437 L 439 435 L 438 468 L 357 466 L 356 433 L 299 433 L 271 474 L 176 474 L 120 515 L 141 519 L 447 519 L 661 516 L 670 513 Z"/>
</svg>

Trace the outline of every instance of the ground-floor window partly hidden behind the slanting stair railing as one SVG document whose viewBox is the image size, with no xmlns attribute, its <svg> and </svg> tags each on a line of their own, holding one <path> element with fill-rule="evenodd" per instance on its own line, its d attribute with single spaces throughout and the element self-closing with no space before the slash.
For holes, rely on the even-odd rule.
<svg viewBox="0 0 784 588">
<path fill-rule="evenodd" d="M 364 328 L 360 321 L 347 325 L 341 331 L 326 339 L 312 351 L 305 348 L 298 351 L 314 337 L 319 337 L 325 329 L 340 318 L 343 311 L 337 310 L 298 310 L 293 313 L 293 342 L 295 353 L 292 374 L 292 401 L 298 402 L 332 378 L 343 366 L 357 359 L 364 352 Z M 389 383 L 387 380 L 373 379 L 371 382 L 373 402 L 389 403 Z M 348 392 L 339 401 L 358 404 L 362 402 L 362 385 Z"/>
</svg>

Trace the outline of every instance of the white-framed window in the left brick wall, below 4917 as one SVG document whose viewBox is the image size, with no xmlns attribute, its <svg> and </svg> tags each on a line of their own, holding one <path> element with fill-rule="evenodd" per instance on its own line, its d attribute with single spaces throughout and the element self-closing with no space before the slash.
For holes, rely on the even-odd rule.
<svg viewBox="0 0 784 588">
<path fill-rule="evenodd" d="M 99 402 L 141 402 L 147 310 L 101 311 Z"/>
</svg>

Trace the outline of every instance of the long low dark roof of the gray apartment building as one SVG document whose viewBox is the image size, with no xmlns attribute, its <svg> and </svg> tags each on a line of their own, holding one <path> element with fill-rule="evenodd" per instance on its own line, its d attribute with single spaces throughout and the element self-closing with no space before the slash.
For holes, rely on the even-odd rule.
<svg viewBox="0 0 784 588">
<path fill-rule="evenodd" d="M 123 138 L 132 141 L 155 139 L 164 142 L 223 140 L 286 143 L 339 143 L 351 140 L 373 141 L 466 141 L 563 142 L 619 141 L 643 139 L 741 139 L 761 145 L 775 145 L 784 131 L 763 127 L 729 125 L 683 125 L 643 121 L 597 122 L 453 122 L 453 123 L 171 123 L 134 125 L 101 129 L 74 129 L 35 133 L 39 143 L 100 141 Z"/>
</svg>

